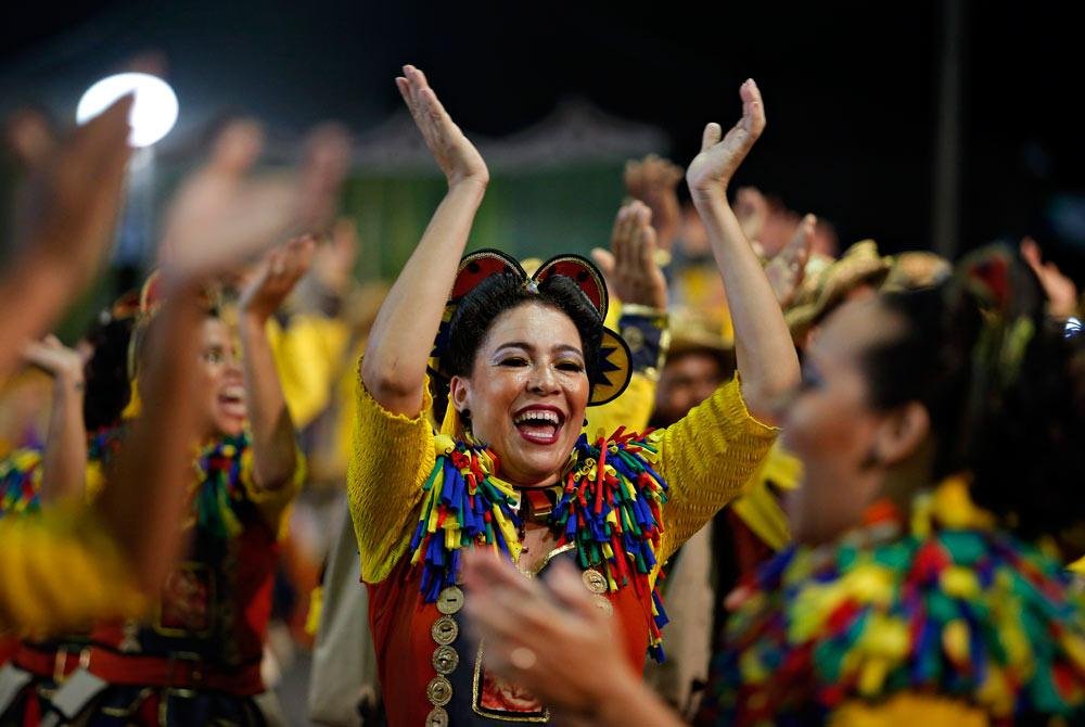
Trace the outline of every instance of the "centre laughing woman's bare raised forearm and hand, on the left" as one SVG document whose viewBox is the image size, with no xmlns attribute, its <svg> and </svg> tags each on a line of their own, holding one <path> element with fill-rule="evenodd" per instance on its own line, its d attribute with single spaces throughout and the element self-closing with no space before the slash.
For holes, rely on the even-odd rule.
<svg viewBox="0 0 1085 727">
<path fill-rule="evenodd" d="M 396 86 L 448 179 L 448 193 L 381 306 L 366 347 L 361 380 L 382 407 L 414 417 L 422 409 L 433 339 L 489 171 L 421 71 L 404 66 Z"/>
</svg>

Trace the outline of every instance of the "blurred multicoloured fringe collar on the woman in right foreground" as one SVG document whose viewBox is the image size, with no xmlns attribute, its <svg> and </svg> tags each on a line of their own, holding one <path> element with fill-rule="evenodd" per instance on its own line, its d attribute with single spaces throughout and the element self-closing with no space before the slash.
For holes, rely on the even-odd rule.
<svg viewBox="0 0 1085 727">
<path fill-rule="evenodd" d="M 995 718 L 1081 714 L 1085 596 L 1063 569 L 997 532 L 916 525 L 791 547 L 742 584 L 699 724 L 816 720 L 903 691 Z"/>
</svg>

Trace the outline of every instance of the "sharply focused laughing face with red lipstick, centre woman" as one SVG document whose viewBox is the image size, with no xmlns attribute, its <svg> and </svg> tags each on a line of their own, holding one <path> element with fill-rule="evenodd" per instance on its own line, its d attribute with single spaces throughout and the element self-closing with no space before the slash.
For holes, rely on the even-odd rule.
<svg viewBox="0 0 1085 727">
<path fill-rule="evenodd" d="M 500 458 L 501 476 L 524 486 L 557 479 L 580 434 L 588 393 L 579 331 L 536 303 L 498 316 L 471 377 L 451 382 L 454 406 L 471 411 L 471 431 Z"/>
</svg>

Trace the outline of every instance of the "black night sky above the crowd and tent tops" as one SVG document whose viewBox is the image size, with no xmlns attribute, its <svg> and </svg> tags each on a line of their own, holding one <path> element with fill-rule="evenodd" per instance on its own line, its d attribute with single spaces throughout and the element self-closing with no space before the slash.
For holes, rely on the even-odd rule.
<svg viewBox="0 0 1085 727">
<path fill-rule="evenodd" d="M 958 247 L 1031 232 L 1081 279 L 1085 189 L 1072 3 L 965 0 Z M 927 247 L 944 7 L 909 3 L 210 2 L 23 7 L 0 29 L 0 104 L 67 118 L 79 93 L 157 50 L 178 132 L 242 107 L 282 133 L 356 131 L 398 107 L 392 77 L 426 71 L 470 132 L 500 137 L 586 97 L 653 124 L 688 162 L 736 90 L 761 85 L 769 129 L 740 174 L 829 218 L 846 244 Z M 12 17 L 9 14 L 9 17 Z"/>
</svg>

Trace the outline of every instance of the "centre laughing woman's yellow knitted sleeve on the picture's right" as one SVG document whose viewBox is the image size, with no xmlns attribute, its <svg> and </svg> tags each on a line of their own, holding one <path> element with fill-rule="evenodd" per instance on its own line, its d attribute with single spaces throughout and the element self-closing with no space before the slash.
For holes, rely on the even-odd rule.
<svg viewBox="0 0 1085 727">
<path fill-rule="evenodd" d="M 737 374 L 661 432 L 660 474 L 671 488 L 663 508 L 661 563 L 742 493 L 777 434 L 778 429 L 750 416 Z"/>
</svg>

